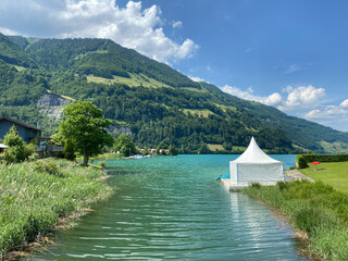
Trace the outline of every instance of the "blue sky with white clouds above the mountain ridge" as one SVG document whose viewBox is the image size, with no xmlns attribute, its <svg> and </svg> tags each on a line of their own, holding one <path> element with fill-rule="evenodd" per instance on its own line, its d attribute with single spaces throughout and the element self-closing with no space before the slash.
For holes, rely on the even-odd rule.
<svg viewBox="0 0 348 261">
<path fill-rule="evenodd" d="M 348 132 L 346 0 L 1 0 L 0 32 L 109 38 L 194 80 Z"/>
</svg>

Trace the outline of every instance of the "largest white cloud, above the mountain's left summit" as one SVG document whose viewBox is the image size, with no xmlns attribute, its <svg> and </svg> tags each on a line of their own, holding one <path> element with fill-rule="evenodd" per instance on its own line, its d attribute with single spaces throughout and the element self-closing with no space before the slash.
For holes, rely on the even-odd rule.
<svg viewBox="0 0 348 261">
<path fill-rule="evenodd" d="M 114 0 L 1 0 L 0 24 L 2 32 L 25 36 L 109 38 L 160 62 L 189 58 L 198 49 L 191 39 L 170 39 L 161 10 L 156 4 L 142 9 L 141 1 L 120 8 Z"/>
</svg>

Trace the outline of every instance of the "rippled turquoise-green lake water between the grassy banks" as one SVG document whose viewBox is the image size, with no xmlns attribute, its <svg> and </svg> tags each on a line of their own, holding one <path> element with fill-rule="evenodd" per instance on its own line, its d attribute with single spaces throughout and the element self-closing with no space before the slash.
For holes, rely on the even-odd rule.
<svg viewBox="0 0 348 261">
<path fill-rule="evenodd" d="M 270 208 L 215 181 L 235 158 L 107 161 L 114 197 L 34 260 L 307 260 Z M 296 157 L 274 158 L 294 163 Z"/>
</svg>

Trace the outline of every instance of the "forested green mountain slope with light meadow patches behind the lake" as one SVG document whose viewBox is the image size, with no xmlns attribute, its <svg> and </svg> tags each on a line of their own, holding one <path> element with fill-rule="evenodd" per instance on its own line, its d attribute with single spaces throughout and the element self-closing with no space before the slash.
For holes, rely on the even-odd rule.
<svg viewBox="0 0 348 261">
<path fill-rule="evenodd" d="M 348 151 L 348 133 L 192 82 L 108 39 L 0 35 L 0 114 L 38 122 L 47 135 L 60 104 L 89 100 L 112 120 L 110 132 L 132 133 L 139 147 L 164 141 L 184 153 L 240 152 L 254 136 L 275 153 Z"/>
</svg>

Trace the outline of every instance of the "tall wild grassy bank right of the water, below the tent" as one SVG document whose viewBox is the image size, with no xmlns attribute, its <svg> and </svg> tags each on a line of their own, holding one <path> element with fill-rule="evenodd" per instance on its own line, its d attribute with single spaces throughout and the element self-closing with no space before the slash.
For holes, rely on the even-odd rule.
<svg viewBox="0 0 348 261">
<path fill-rule="evenodd" d="M 281 209 L 296 229 L 306 232 L 309 252 L 348 260 L 348 195 L 322 182 L 256 185 L 244 192 Z"/>
</svg>

